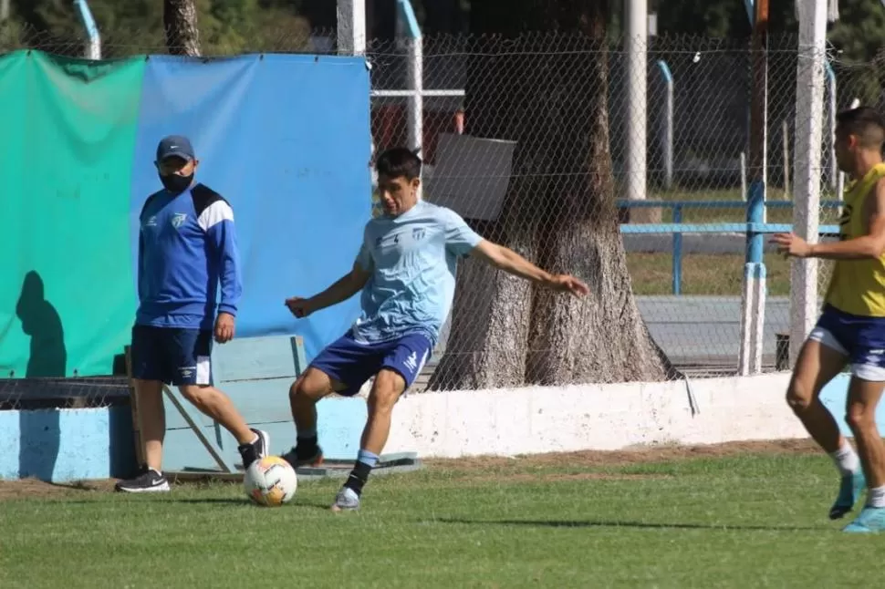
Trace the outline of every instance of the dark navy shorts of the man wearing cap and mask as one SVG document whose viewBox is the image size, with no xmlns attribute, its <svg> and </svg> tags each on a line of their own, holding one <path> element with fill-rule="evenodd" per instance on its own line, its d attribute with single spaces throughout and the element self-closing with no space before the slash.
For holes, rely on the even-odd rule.
<svg viewBox="0 0 885 589">
<path fill-rule="evenodd" d="M 181 327 L 132 327 L 132 377 L 167 385 L 212 384 L 212 332 Z"/>
</svg>

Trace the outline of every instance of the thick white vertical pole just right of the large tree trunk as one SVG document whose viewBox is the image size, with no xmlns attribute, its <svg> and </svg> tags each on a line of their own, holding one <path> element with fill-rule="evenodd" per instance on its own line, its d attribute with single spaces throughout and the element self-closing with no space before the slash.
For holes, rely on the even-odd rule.
<svg viewBox="0 0 885 589">
<path fill-rule="evenodd" d="M 624 0 L 627 20 L 627 198 L 644 200 L 646 196 L 646 134 L 648 129 L 648 0 Z"/>
</svg>

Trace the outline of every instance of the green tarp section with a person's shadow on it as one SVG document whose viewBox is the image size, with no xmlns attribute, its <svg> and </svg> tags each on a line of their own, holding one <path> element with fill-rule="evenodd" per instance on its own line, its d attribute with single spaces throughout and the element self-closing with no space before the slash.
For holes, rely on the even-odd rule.
<svg viewBox="0 0 885 589">
<path fill-rule="evenodd" d="M 0 57 L 0 377 L 109 374 L 129 341 L 144 64 Z"/>
</svg>

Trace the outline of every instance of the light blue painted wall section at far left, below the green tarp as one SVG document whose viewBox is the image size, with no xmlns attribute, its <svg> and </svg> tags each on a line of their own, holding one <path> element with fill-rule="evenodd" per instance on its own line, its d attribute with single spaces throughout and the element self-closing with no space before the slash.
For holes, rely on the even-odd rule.
<svg viewBox="0 0 885 589">
<path fill-rule="evenodd" d="M 0 479 L 108 479 L 134 466 L 129 407 L 0 411 Z"/>
</svg>

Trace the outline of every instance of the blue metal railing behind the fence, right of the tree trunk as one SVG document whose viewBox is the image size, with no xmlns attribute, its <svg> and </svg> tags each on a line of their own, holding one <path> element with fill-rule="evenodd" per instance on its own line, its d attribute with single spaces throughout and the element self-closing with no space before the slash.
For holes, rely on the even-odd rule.
<svg viewBox="0 0 885 589">
<path fill-rule="evenodd" d="M 821 208 L 838 209 L 842 206 L 841 201 L 821 201 Z M 747 222 L 713 222 L 713 223 L 683 223 L 682 212 L 685 209 L 743 209 L 747 210 L 747 202 L 744 201 L 619 201 L 620 209 L 671 209 L 672 222 L 669 223 L 637 223 L 621 224 L 622 234 L 661 234 L 672 233 L 672 294 L 682 294 L 682 235 L 684 233 L 744 233 L 747 240 L 747 261 L 753 257 L 761 257 L 762 238 L 766 233 L 787 233 L 793 231 L 791 223 L 765 223 L 757 221 L 758 215 L 753 215 L 753 220 Z M 767 209 L 791 209 L 793 202 L 768 201 L 765 202 Z M 748 217 L 750 215 L 747 215 Z M 837 235 L 838 225 L 821 225 L 818 232 L 821 235 Z M 759 252 L 750 252 L 759 249 Z"/>
</svg>

